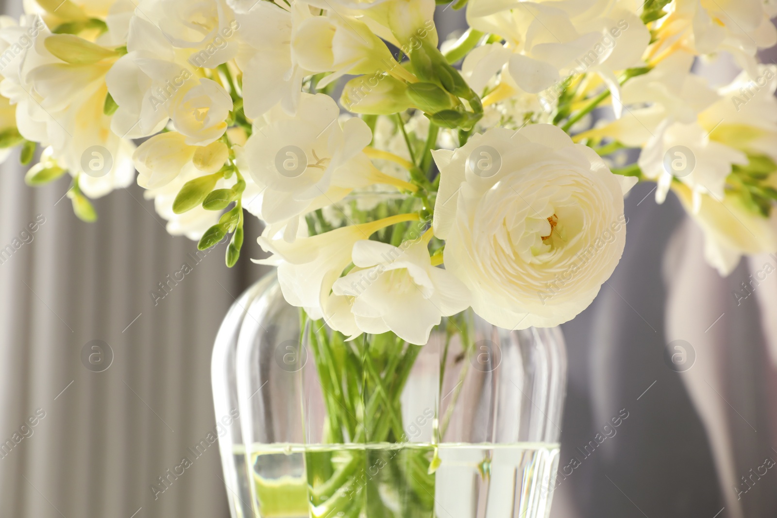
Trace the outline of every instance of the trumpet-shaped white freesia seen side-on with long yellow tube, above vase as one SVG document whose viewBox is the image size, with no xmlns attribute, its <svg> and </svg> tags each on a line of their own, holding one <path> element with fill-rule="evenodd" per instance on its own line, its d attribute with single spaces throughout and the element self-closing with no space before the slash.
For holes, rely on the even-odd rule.
<svg viewBox="0 0 777 518">
<path fill-rule="evenodd" d="M 416 214 L 399 214 L 370 223 L 336 228 L 309 238 L 297 238 L 286 242 L 282 238 L 262 236 L 258 239 L 262 249 L 273 252 L 270 259 L 260 264 L 278 266 L 278 283 L 284 298 L 292 306 L 305 308 L 310 318 L 324 316 L 323 307 L 332 285 L 351 261 L 354 243 L 368 239 L 381 228 L 401 221 L 417 220 Z"/>
</svg>

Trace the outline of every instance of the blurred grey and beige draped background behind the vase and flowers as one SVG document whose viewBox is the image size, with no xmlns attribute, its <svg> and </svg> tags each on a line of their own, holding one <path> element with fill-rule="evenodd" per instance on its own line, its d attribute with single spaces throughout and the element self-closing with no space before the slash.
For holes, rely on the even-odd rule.
<svg viewBox="0 0 777 518">
<path fill-rule="evenodd" d="M 21 3 L 0 9 L 17 17 Z M 458 30 L 463 12 L 438 9 L 437 24 Z M 724 58 L 699 67 L 720 83 L 737 72 Z M 166 492 L 150 486 L 214 429 L 211 348 L 235 297 L 265 273 L 249 262 L 258 245 L 246 239 L 233 269 L 223 249 L 196 255 L 138 186 L 96 200 L 99 221 L 82 223 L 68 179 L 27 187 L 16 158 L 0 166 L 0 249 L 23 243 L 0 257 L 0 443 L 14 443 L 0 451 L 0 517 L 228 516 L 215 445 Z M 653 188 L 630 193 L 618 269 L 563 326 L 552 518 L 777 516 L 777 469 L 758 475 L 777 460 L 777 276 L 735 294 L 777 257 L 720 278 L 699 229 Z M 192 271 L 169 283 L 184 262 Z M 95 353 L 102 367 L 88 368 Z M 618 415 L 615 436 L 585 450 Z"/>
</svg>

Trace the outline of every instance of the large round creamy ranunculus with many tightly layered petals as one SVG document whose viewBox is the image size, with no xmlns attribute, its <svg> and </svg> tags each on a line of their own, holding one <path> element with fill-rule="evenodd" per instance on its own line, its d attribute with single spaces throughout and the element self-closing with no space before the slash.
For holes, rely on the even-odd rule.
<svg viewBox="0 0 777 518">
<path fill-rule="evenodd" d="M 494 128 L 434 161 L 434 233 L 478 315 L 547 327 L 591 304 L 623 252 L 623 194 L 636 179 L 549 124 Z"/>
</svg>

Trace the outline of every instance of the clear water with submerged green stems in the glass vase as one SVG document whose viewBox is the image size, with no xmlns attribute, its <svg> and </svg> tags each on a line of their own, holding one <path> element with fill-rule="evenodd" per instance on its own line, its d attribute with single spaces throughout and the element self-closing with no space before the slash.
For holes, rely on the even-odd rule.
<svg viewBox="0 0 777 518">
<path fill-rule="evenodd" d="M 546 518 L 558 444 L 257 444 L 258 518 Z"/>
</svg>

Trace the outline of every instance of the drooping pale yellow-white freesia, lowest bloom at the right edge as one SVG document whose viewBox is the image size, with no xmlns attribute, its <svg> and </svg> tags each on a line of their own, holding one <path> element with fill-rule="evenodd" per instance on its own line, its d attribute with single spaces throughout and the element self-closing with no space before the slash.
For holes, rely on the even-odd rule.
<svg viewBox="0 0 777 518">
<path fill-rule="evenodd" d="M 742 206 L 732 194 L 722 200 L 701 196 L 699 202 L 687 186 L 674 183 L 685 210 L 704 232 L 704 258 L 720 275 L 727 276 L 745 254 L 777 252 L 777 213 L 766 218 Z M 694 205 L 698 204 L 697 210 Z"/>
</svg>

